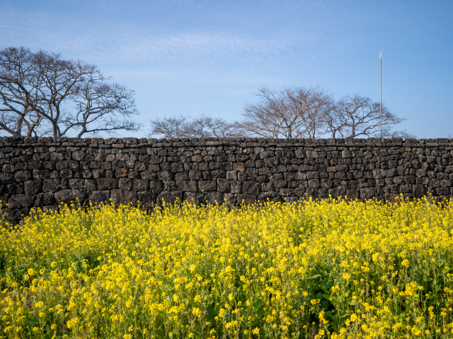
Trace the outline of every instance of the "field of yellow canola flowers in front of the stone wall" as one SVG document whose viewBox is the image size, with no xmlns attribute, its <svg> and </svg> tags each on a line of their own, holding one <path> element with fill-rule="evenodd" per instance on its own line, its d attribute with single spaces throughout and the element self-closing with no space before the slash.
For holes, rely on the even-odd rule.
<svg viewBox="0 0 453 339">
<path fill-rule="evenodd" d="M 1 338 L 453 338 L 453 201 L 35 213 Z"/>
</svg>

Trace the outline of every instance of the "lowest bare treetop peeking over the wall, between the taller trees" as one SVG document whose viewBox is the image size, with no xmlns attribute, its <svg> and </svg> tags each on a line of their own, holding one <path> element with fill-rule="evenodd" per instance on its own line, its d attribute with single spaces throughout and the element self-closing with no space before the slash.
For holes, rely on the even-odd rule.
<svg viewBox="0 0 453 339">
<path fill-rule="evenodd" d="M 164 138 L 229 138 L 242 136 L 243 132 L 234 123 L 224 119 L 209 117 L 205 114 L 195 118 L 173 116 L 164 119 L 150 120 L 151 129 L 147 134 L 151 136 L 164 136 Z"/>
</svg>

